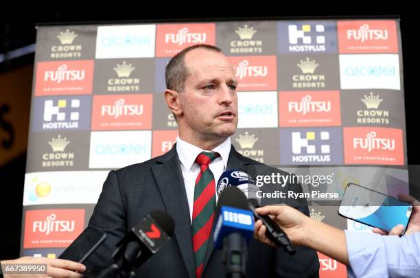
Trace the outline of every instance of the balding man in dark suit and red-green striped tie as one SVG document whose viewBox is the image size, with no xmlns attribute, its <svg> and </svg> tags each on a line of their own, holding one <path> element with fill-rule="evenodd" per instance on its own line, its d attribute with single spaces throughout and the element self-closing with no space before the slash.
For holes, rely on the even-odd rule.
<svg viewBox="0 0 420 278">
<path fill-rule="evenodd" d="M 174 218 L 174 236 L 137 270 L 138 277 L 221 278 L 222 252 L 213 250 L 211 240 L 215 181 L 227 169 L 253 176 L 255 165 L 262 164 L 231 146 L 237 80 L 220 49 L 195 45 L 180 51 L 168 63 L 165 79 L 165 101 L 178 122 L 179 137 L 163 156 L 110 172 L 89 222 L 108 238 L 86 265 L 108 262 L 127 231 L 160 209 Z M 300 185 L 296 190 L 301 191 Z M 288 202 L 271 200 L 282 201 Z M 305 200 L 303 204 L 300 209 L 308 214 Z M 294 256 L 255 240 L 248 248 L 247 277 L 317 277 L 318 269 L 318 257 L 309 248 L 299 248 Z"/>
</svg>

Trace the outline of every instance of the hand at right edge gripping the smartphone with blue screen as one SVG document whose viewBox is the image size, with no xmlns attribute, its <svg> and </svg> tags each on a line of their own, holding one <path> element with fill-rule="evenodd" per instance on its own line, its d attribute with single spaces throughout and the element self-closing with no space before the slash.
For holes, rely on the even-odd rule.
<svg viewBox="0 0 420 278">
<path fill-rule="evenodd" d="M 398 194 L 398 198 L 399 200 L 408 202 L 412 205 L 411 218 L 410 222 L 408 222 L 406 235 L 420 231 L 420 202 L 413 196 L 406 194 Z M 373 228 L 373 233 L 379 233 L 380 235 L 401 235 L 403 231 L 404 226 L 402 224 L 393 227 L 389 233 L 382 231 L 379 228 Z"/>
</svg>

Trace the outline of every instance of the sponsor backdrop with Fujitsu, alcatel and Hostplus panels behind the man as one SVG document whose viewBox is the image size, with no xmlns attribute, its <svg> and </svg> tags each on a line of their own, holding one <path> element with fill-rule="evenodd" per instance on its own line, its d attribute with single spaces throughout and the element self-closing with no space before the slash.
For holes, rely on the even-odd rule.
<svg viewBox="0 0 420 278">
<path fill-rule="evenodd" d="M 224 21 L 38 27 L 22 255 L 54 257 L 86 227 L 109 170 L 172 148 L 163 100 L 170 57 L 220 47 L 239 80 L 244 156 L 396 196 L 408 191 L 399 21 Z M 307 165 L 314 165 L 309 167 Z M 305 191 L 315 186 L 302 182 Z M 390 187 L 397 184 L 397 187 Z M 311 216 L 370 231 L 310 200 Z M 147 213 L 148 211 L 145 211 Z M 345 277 L 320 255 L 321 276 Z"/>
</svg>

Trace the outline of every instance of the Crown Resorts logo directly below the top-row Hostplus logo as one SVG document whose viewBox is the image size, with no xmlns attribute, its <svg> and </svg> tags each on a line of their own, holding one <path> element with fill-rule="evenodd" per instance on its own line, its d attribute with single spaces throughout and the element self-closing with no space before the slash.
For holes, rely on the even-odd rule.
<svg viewBox="0 0 420 278">
<path fill-rule="evenodd" d="M 310 60 L 309 57 L 306 60 L 301 60 L 296 64 L 303 74 L 295 74 L 292 76 L 293 88 L 299 89 L 311 89 L 311 88 L 325 88 L 325 75 L 314 74 L 319 64 L 316 60 Z"/>
</svg>

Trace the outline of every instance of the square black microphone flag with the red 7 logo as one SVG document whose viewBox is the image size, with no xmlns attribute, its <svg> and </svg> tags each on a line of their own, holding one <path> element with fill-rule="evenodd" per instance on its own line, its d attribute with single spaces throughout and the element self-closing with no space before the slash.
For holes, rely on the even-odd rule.
<svg viewBox="0 0 420 278">
<path fill-rule="evenodd" d="M 149 215 L 145 216 L 143 221 L 134 227 L 132 231 L 148 246 L 148 249 L 153 254 L 159 251 L 159 248 L 161 248 L 164 242 L 170 240 L 170 236 Z"/>
</svg>

